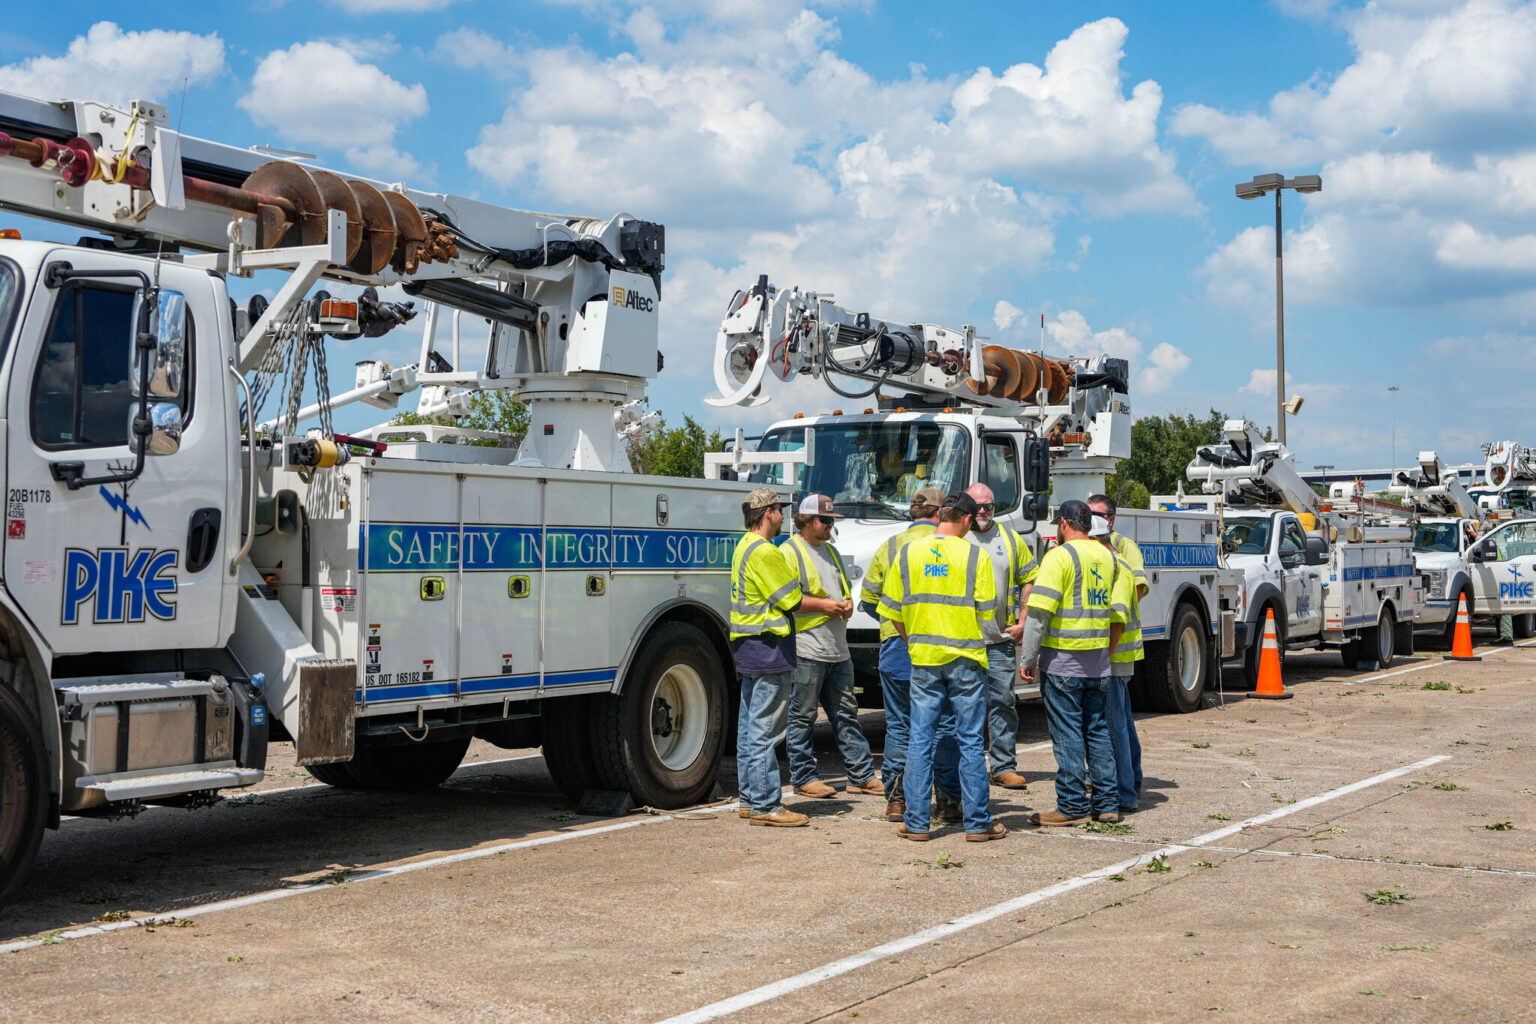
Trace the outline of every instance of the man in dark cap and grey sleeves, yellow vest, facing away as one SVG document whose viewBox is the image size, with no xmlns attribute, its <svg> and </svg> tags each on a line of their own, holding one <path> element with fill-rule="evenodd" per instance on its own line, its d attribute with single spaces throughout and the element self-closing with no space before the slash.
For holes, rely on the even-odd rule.
<svg viewBox="0 0 1536 1024">
<path fill-rule="evenodd" d="M 1026 606 L 1018 674 L 1040 679 L 1051 746 L 1055 752 L 1057 809 L 1029 815 L 1035 824 L 1080 824 L 1092 811 L 1100 821 L 1120 820 L 1115 749 L 1109 738 L 1109 649 L 1124 628 L 1126 609 L 1114 608 L 1120 562 L 1089 540 L 1094 513 L 1069 499 L 1057 510 L 1060 545 L 1040 560 Z M 1092 778 L 1086 792 L 1083 765 Z"/>
</svg>

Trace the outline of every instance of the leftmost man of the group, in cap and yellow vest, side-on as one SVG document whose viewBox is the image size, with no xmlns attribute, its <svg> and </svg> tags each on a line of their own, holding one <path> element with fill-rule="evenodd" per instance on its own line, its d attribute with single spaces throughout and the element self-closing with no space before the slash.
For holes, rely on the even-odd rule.
<svg viewBox="0 0 1536 1024">
<path fill-rule="evenodd" d="M 788 717 L 794 677 L 794 620 L 808 611 L 831 611 L 837 602 L 806 599 L 800 579 L 773 543 L 783 528 L 782 500 L 771 487 L 753 490 L 742 502 L 746 533 L 731 556 L 731 654 L 742 677 L 736 725 L 736 783 L 740 817 L 751 824 L 800 826 L 809 818 L 779 800 L 779 755 L 774 737 Z"/>
</svg>

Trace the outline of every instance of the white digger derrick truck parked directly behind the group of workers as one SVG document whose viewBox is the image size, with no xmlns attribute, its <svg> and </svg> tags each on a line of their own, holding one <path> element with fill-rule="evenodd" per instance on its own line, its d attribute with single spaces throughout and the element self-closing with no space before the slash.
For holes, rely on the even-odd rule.
<svg viewBox="0 0 1536 1024">
<path fill-rule="evenodd" d="M 785 382 L 819 379 L 842 399 L 869 405 L 779 421 L 756 451 L 745 450 L 739 431 L 731 451 L 708 457 L 710 470 L 828 494 L 849 516 L 837 545 L 856 585 L 880 545 L 905 528 L 920 488 L 986 484 L 998 522 L 1038 556 L 1040 527 L 1051 531 L 1048 487 L 1054 482 L 1049 500 L 1087 497 L 1129 454 L 1124 359 L 1051 359 L 983 345 L 969 325 L 882 319 L 759 278 L 727 309 L 716 347 L 720 395 L 708 401 L 766 402 L 770 372 Z M 1223 602 L 1238 600 L 1241 590 L 1220 567 L 1217 519 L 1123 510 L 1115 525 L 1141 545 L 1150 586 L 1141 600 L 1147 657 L 1137 689 L 1150 708 L 1195 711 L 1224 652 Z M 1229 645 L 1232 622 L 1229 614 Z M 879 623 L 856 611 L 848 639 L 860 697 L 877 706 Z M 1038 688 L 1018 682 L 1017 692 L 1035 697 Z"/>
</svg>

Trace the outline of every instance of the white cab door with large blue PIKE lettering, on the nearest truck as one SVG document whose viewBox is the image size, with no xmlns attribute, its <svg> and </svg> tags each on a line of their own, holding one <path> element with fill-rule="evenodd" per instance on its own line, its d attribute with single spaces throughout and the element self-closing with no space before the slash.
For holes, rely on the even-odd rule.
<svg viewBox="0 0 1536 1024">
<path fill-rule="evenodd" d="M 178 330 L 184 347 L 160 358 L 151 393 L 178 395 L 152 408 L 180 411 L 180 445 L 158 434 L 135 479 L 71 488 L 71 474 L 121 476 L 137 451 L 140 279 L 92 272 L 151 264 L 78 249 L 49 253 L 51 264 L 71 272 L 29 282 L 12 341 L 5 579 L 55 654 L 217 646 L 233 625 L 224 593 L 240 530 L 223 287 L 187 267 L 160 270 L 160 335 L 167 353 Z M 177 375 L 180 388 L 167 385 Z"/>
</svg>

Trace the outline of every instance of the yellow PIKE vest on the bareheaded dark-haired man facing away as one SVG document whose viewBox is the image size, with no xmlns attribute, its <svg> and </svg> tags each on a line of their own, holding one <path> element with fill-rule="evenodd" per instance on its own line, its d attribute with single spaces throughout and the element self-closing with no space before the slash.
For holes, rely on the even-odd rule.
<svg viewBox="0 0 1536 1024">
<path fill-rule="evenodd" d="M 982 548 L 965 537 L 925 537 L 902 545 L 886 573 L 880 616 L 906 629 L 912 665 L 968 657 L 986 668 L 982 619 L 992 617 L 997 583 Z"/>
</svg>

